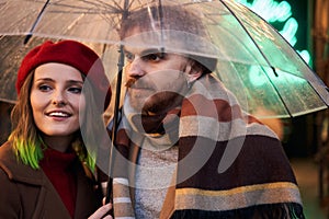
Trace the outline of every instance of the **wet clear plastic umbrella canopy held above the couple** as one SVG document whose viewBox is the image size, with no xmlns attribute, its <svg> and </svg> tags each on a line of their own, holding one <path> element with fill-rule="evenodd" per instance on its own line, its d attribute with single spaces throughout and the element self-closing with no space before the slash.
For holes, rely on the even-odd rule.
<svg viewBox="0 0 329 219">
<path fill-rule="evenodd" d="M 139 47 L 216 59 L 214 74 L 237 96 L 245 111 L 256 115 L 266 110 L 271 116 L 291 117 L 327 108 L 329 95 L 317 74 L 271 25 L 234 1 L 2 0 L 0 20 L 5 22 L 0 23 L 0 35 L 35 35 L 136 46 L 137 39 L 121 41 L 117 31 L 122 21 L 131 11 L 143 7 L 156 5 L 158 13 L 163 14 L 162 4 L 193 11 L 205 25 L 207 37 L 191 34 L 179 26 L 174 30 L 160 27 L 140 34 Z M 174 43 L 182 37 L 189 46 Z"/>
</svg>

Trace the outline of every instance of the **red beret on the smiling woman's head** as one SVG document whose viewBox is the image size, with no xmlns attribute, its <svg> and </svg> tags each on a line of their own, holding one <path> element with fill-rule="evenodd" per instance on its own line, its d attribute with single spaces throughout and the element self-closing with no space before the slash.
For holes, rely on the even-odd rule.
<svg viewBox="0 0 329 219">
<path fill-rule="evenodd" d="M 69 65 L 83 73 L 95 89 L 95 97 L 102 99 L 104 108 L 111 101 L 111 88 L 100 57 L 86 45 L 75 41 L 53 43 L 47 41 L 33 48 L 23 59 L 18 72 L 16 91 L 20 90 L 26 77 L 38 66 L 47 62 Z"/>
</svg>

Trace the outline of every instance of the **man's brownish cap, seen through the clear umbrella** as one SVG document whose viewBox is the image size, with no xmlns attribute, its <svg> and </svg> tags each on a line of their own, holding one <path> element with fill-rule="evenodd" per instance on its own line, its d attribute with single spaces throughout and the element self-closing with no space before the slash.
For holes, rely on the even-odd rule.
<svg viewBox="0 0 329 219">
<path fill-rule="evenodd" d="M 131 37 L 132 32 L 136 28 L 139 32 L 160 30 L 163 33 L 177 34 L 175 37 L 169 37 L 169 41 L 182 43 L 185 51 L 183 54 L 198 62 L 205 73 L 215 70 L 217 59 L 213 56 L 205 56 L 207 53 L 214 54 L 214 45 L 211 44 L 202 19 L 188 9 L 166 4 L 144 7 L 137 11 L 132 11 L 121 25 L 121 38 Z"/>
</svg>

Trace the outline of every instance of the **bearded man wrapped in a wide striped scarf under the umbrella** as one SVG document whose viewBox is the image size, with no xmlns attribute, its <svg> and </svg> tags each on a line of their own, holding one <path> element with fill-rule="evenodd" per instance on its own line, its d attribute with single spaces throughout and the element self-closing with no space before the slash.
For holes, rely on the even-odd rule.
<svg viewBox="0 0 329 219">
<path fill-rule="evenodd" d="M 212 76 L 216 48 L 200 21 L 162 5 L 122 25 L 127 93 L 114 216 L 304 218 L 280 140 Z"/>
</svg>

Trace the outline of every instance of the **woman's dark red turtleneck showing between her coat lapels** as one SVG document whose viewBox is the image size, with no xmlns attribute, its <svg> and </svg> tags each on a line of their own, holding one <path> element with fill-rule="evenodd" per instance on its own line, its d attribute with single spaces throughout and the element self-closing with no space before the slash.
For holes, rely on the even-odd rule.
<svg viewBox="0 0 329 219">
<path fill-rule="evenodd" d="M 39 163 L 71 218 L 75 216 L 77 197 L 76 173 L 71 165 L 76 158 L 77 155 L 73 151 L 64 153 L 48 148 L 44 151 L 44 159 Z"/>
</svg>

